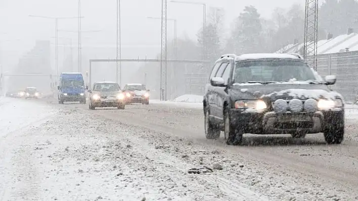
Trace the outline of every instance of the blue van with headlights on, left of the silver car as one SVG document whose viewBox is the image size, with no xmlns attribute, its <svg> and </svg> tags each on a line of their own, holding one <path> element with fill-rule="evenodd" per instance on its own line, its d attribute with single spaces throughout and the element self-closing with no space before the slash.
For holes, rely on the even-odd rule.
<svg viewBox="0 0 358 201">
<path fill-rule="evenodd" d="M 60 104 L 77 101 L 82 104 L 86 103 L 85 90 L 88 87 L 84 86 L 81 73 L 61 73 L 57 89 L 59 90 L 58 100 Z"/>
</svg>

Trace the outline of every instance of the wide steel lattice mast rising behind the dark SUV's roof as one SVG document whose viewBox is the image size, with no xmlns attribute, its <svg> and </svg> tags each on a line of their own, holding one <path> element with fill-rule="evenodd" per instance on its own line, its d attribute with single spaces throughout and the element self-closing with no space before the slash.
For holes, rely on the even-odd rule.
<svg viewBox="0 0 358 201">
<path fill-rule="evenodd" d="M 317 71 L 318 0 L 306 0 L 304 16 L 303 56 Z"/>
</svg>

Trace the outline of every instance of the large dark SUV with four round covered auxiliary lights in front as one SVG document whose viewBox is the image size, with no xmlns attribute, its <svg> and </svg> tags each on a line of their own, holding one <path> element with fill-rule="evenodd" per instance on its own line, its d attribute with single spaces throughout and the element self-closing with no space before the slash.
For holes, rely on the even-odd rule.
<svg viewBox="0 0 358 201">
<path fill-rule="evenodd" d="M 327 143 L 344 136 L 344 101 L 329 89 L 335 76 L 318 75 L 297 54 L 226 54 L 215 62 L 203 101 L 205 135 L 237 145 L 244 133 L 323 132 Z"/>
</svg>

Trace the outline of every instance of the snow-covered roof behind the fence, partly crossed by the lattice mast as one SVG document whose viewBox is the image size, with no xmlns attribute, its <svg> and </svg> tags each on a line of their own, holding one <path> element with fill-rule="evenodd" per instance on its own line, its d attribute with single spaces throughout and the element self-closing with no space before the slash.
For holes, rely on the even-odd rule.
<svg viewBox="0 0 358 201">
<path fill-rule="evenodd" d="M 275 53 L 299 53 L 303 51 L 303 43 L 288 44 L 285 47 L 277 50 Z M 317 42 L 317 53 L 318 54 L 330 54 L 345 51 L 348 48 L 349 51 L 358 50 L 358 34 L 343 34 L 332 39 L 323 39 Z"/>
</svg>

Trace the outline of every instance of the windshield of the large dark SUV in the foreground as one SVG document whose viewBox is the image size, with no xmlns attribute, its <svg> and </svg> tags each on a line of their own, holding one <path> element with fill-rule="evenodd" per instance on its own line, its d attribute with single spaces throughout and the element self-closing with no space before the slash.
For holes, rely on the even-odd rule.
<svg viewBox="0 0 358 201">
<path fill-rule="evenodd" d="M 276 83 L 289 81 L 317 81 L 314 72 L 302 61 L 255 60 L 237 62 L 234 83 Z"/>
</svg>

